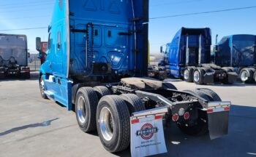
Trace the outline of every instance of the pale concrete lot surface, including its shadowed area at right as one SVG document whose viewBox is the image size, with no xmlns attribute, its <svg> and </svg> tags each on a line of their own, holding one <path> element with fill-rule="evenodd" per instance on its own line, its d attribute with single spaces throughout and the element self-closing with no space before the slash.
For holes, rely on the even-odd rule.
<svg viewBox="0 0 256 157">
<path fill-rule="evenodd" d="M 256 86 L 197 86 L 173 81 L 178 89 L 208 87 L 231 100 L 229 134 L 217 140 L 189 137 L 175 126 L 165 130 L 168 153 L 161 156 L 256 156 Z M 37 79 L 0 81 L 0 156 L 130 156 L 111 154 L 97 133 L 83 133 L 75 113 L 39 94 Z"/>
</svg>

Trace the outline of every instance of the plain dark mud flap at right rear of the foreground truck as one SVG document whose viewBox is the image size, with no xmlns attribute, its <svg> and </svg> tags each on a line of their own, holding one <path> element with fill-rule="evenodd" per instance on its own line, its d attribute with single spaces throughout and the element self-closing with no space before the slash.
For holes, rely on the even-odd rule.
<svg viewBox="0 0 256 157">
<path fill-rule="evenodd" d="M 229 111 L 208 113 L 208 130 L 211 140 L 222 137 L 228 132 Z"/>
</svg>

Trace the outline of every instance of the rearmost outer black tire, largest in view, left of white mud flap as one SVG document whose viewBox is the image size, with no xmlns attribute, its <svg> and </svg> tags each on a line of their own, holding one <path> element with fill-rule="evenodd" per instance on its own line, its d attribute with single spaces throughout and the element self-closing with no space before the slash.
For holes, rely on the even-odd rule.
<svg viewBox="0 0 256 157">
<path fill-rule="evenodd" d="M 105 117 L 104 113 L 108 111 L 110 118 L 107 119 L 108 123 L 104 123 L 101 117 Z M 101 116 L 100 114 L 103 114 Z M 111 121 L 113 125 L 111 124 Z M 110 125 L 110 127 L 105 127 L 104 124 Z M 113 126 L 113 127 L 112 127 Z M 110 128 L 112 136 L 106 136 L 106 128 Z M 125 101 L 118 95 L 107 95 L 99 100 L 99 105 L 97 107 L 97 131 L 99 134 L 99 139 L 102 145 L 110 153 L 119 152 L 125 150 L 129 146 L 130 142 L 130 126 L 129 126 L 129 109 Z"/>
</svg>

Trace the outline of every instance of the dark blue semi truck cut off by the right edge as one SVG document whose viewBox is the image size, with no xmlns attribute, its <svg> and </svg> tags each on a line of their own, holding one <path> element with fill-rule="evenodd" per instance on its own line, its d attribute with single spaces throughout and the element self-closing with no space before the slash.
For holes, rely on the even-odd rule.
<svg viewBox="0 0 256 157">
<path fill-rule="evenodd" d="M 215 47 L 215 63 L 230 66 L 242 82 L 256 81 L 256 36 L 237 34 L 225 36 Z"/>
</svg>

